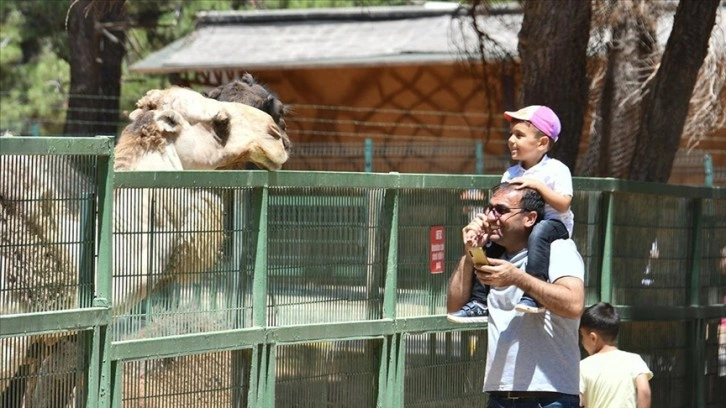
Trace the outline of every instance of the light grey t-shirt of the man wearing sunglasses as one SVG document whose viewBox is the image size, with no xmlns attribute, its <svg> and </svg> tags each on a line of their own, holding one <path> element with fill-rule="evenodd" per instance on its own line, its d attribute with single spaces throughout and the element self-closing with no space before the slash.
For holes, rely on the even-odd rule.
<svg viewBox="0 0 726 408">
<path fill-rule="evenodd" d="M 506 257 L 503 259 L 507 259 Z M 526 250 L 510 262 L 526 266 Z M 552 243 L 550 282 L 565 276 L 584 280 L 585 265 L 575 242 Z M 517 286 L 491 287 L 484 391 L 555 391 L 578 395 L 580 319 L 568 319 L 549 310 L 521 313 L 514 310 L 524 292 Z"/>
</svg>

